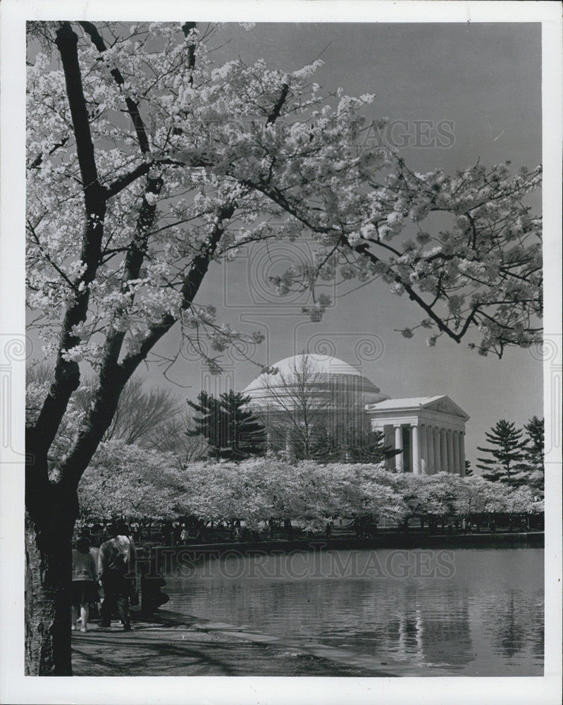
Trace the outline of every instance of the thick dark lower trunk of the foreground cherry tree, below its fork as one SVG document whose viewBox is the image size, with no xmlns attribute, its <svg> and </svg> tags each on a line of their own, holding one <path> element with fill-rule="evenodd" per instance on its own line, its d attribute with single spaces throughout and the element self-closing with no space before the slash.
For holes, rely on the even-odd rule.
<svg viewBox="0 0 563 705">
<path fill-rule="evenodd" d="M 25 674 L 73 675 L 70 589 L 78 497 L 60 484 L 43 490 L 40 503 L 26 492 Z"/>
</svg>

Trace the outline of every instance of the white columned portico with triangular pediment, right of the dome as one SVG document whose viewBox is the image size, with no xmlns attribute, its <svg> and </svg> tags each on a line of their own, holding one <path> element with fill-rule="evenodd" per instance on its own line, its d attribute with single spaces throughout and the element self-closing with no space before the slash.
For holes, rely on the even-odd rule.
<svg viewBox="0 0 563 705">
<path fill-rule="evenodd" d="M 401 453 L 388 461 L 397 472 L 465 475 L 469 416 L 447 396 L 386 399 L 366 405 L 372 430 Z"/>
</svg>

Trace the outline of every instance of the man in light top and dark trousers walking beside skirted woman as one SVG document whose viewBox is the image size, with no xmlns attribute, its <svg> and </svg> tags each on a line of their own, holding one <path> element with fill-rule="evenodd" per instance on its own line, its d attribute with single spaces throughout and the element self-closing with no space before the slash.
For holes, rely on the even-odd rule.
<svg viewBox="0 0 563 705">
<path fill-rule="evenodd" d="M 104 589 L 101 603 L 101 626 L 111 627 L 111 615 L 117 611 L 125 632 L 130 632 L 129 599 L 132 581 L 127 577 L 135 560 L 135 544 L 128 525 L 118 522 L 109 527 L 109 540 L 99 549 L 98 574 Z"/>
</svg>

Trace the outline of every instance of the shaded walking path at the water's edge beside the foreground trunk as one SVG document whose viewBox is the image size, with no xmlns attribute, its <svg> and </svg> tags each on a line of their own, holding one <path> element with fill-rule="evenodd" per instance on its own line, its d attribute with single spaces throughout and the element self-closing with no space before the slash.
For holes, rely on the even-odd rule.
<svg viewBox="0 0 563 705">
<path fill-rule="evenodd" d="M 74 675 L 452 675 L 174 613 L 159 613 L 159 623 L 133 623 L 131 632 L 113 625 L 73 632 Z"/>
</svg>

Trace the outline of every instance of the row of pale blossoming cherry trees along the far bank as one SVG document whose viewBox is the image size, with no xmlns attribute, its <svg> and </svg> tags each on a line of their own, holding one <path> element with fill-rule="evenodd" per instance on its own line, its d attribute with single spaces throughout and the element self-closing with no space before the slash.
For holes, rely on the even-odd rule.
<svg viewBox="0 0 563 705">
<path fill-rule="evenodd" d="M 277 455 L 192 462 L 180 469 L 173 458 L 155 454 L 140 467 L 131 446 L 111 441 L 105 452 L 108 458 L 100 455 L 80 485 L 85 522 L 115 516 L 141 523 L 189 518 L 202 527 L 210 522 L 234 527 L 242 520 L 257 529 L 289 521 L 318 531 L 335 517 L 397 526 L 419 519 L 432 526 L 462 517 L 484 522 L 493 515 L 543 512 L 543 498 L 534 489 L 483 477 L 395 473 L 381 464 L 290 462 Z"/>
</svg>

